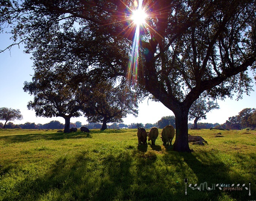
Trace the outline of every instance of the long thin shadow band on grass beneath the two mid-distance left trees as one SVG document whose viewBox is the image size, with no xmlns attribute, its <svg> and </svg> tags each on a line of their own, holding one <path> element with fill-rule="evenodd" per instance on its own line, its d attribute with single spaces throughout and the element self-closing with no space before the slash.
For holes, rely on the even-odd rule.
<svg viewBox="0 0 256 201">
<path fill-rule="evenodd" d="M 78 138 L 92 138 L 88 133 L 72 132 L 72 133 L 50 133 L 50 134 L 22 134 L 22 135 L 8 135 L 0 136 L 0 140 L 8 143 L 29 142 L 33 140 L 62 140 L 62 139 L 78 139 Z"/>
</svg>

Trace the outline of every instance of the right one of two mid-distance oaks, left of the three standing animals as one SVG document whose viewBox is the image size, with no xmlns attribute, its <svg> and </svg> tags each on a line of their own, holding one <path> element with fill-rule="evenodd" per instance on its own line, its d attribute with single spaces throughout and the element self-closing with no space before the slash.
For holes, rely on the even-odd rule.
<svg viewBox="0 0 256 201">
<path fill-rule="evenodd" d="M 128 88 L 121 85 L 114 87 L 110 82 L 102 82 L 96 84 L 92 90 L 90 107 L 84 112 L 88 121 L 102 122 L 101 130 L 107 128 L 107 123 L 123 122 L 122 118 L 127 114 L 137 116 L 137 100 Z"/>
</svg>

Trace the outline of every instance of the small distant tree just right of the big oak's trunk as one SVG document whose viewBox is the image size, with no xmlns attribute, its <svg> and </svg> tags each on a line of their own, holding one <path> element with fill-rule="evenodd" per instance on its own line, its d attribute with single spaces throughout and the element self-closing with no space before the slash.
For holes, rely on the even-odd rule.
<svg viewBox="0 0 256 201">
<path fill-rule="evenodd" d="M 206 119 L 206 113 L 213 109 L 219 109 L 219 105 L 213 101 L 206 102 L 202 97 L 197 99 L 190 107 L 188 112 L 188 120 L 194 120 L 194 128 L 197 128 L 197 121 Z"/>
</svg>

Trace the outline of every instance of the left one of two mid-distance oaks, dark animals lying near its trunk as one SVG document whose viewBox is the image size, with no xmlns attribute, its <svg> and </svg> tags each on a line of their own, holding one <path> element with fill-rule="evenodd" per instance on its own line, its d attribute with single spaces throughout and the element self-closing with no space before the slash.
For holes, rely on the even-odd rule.
<svg viewBox="0 0 256 201">
<path fill-rule="evenodd" d="M 71 117 L 82 115 L 84 104 L 90 92 L 90 83 L 78 83 L 81 80 L 74 72 L 62 68 L 41 71 L 40 66 L 35 69 L 33 81 L 25 82 L 23 90 L 34 96 L 27 104 L 28 109 L 34 109 L 36 116 L 63 117 L 65 119 L 64 132 L 69 132 Z M 89 79 L 87 80 L 89 81 Z"/>
</svg>

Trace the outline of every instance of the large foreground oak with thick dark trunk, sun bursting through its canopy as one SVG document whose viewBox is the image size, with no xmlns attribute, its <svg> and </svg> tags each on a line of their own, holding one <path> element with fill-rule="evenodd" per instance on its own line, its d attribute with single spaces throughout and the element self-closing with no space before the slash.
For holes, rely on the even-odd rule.
<svg viewBox="0 0 256 201">
<path fill-rule="evenodd" d="M 188 112 L 200 94 L 241 98 L 252 89 L 255 0 L 145 0 L 148 18 L 139 34 L 130 16 L 133 0 L 17 2 L 2 1 L 0 23 L 13 24 L 15 43 L 25 42 L 35 62 L 70 62 L 106 78 L 134 80 L 173 111 L 176 151 L 190 151 Z M 129 62 L 135 44 L 138 57 Z"/>
</svg>

